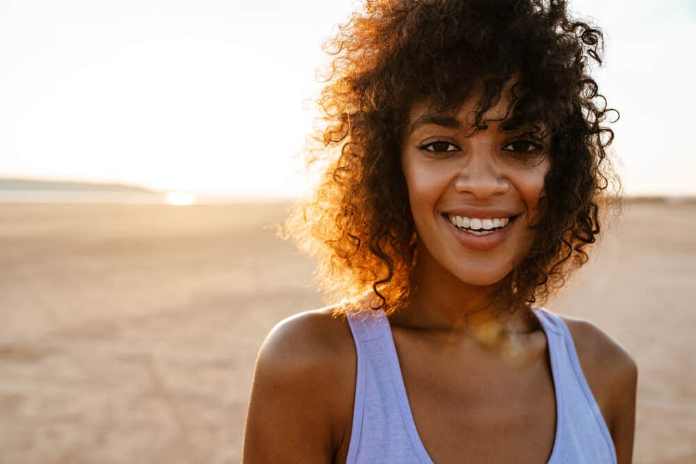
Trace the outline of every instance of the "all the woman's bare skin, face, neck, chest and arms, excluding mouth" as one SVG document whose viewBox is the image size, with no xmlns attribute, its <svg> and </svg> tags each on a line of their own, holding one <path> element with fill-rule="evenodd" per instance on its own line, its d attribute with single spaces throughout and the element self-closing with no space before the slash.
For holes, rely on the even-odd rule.
<svg viewBox="0 0 696 464">
<path fill-rule="evenodd" d="M 499 130 L 505 96 L 472 135 L 466 121 L 473 102 L 445 125 L 414 126 L 427 116 L 427 104 L 412 106 L 415 130 L 404 134 L 402 169 L 419 239 L 417 290 L 390 324 L 418 434 L 434 462 L 467 456 L 471 463 L 545 463 L 556 421 L 546 336 L 530 312 L 496 318 L 500 308 L 482 309 L 482 302 L 530 248 L 529 225 L 537 220 L 550 164 L 544 141 Z M 519 217 L 499 246 L 470 250 L 442 216 L 459 207 L 496 207 Z M 347 321 L 332 311 L 285 319 L 264 341 L 244 463 L 345 463 L 356 353 Z M 564 320 L 618 462 L 630 463 L 635 362 L 591 323 Z"/>
</svg>

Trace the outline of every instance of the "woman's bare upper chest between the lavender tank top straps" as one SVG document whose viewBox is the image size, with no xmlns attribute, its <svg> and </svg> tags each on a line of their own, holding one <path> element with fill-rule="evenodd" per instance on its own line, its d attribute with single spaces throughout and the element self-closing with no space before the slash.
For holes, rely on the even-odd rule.
<svg viewBox="0 0 696 464">
<path fill-rule="evenodd" d="M 542 335 L 543 337 L 543 335 Z M 556 403 L 545 342 L 537 356 L 419 344 L 395 333 L 413 425 L 435 463 L 546 463 Z"/>
</svg>

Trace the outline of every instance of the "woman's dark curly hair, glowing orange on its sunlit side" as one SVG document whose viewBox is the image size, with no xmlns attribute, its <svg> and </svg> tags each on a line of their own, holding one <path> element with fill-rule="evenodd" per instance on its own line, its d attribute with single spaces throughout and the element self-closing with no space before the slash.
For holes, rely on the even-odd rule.
<svg viewBox="0 0 696 464">
<path fill-rule="evenodd" d="M 477 86 L 476 126 L 512 77 L 524 90 L 513 92 L 512 118 L 543 125 L 551 168 L 534 242 L 495 298 L 509 310 L 546 301 L 587 261 L 603 207 L 618 205 L 603 125 L 615 110 L 590 76 L 603 35 L 571 19 L 565 1 L 366 0 L 324 49 L 333 58 L 305 151 L 322 175 L 285 236 L 317 259 L 337 312 L 359 310 L 365 296 L 387 314 L 409 303 L 417 235 L 400 144 L 412 104 L 452 111 Z"/>
</svg>

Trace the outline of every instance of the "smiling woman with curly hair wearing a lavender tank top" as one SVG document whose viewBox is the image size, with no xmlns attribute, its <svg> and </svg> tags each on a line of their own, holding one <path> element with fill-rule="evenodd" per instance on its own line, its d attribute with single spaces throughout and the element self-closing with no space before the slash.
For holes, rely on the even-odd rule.
<svg viewBox="0 0 696 464">
<path fill-rule="evenodd" d="M 564 1 L 367 1 L 287 229 L 340 303 L 258 356 L 245 463 L 630 463 L 637 371 L 543 302 L 609 195 L 601 33 Z"/>
</svg>

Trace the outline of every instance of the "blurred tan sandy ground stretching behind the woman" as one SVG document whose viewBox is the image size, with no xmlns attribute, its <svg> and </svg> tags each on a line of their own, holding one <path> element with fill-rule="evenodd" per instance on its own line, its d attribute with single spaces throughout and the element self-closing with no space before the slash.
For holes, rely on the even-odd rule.
<svg viewBox="0 0 696 464">
<path fill-rule="evenodd" d="M 255 353 L 321 305 L 280 205 L 0 205 L 0 463 L 237 463 Z M 636 463 L 696 463 L 696 205 L 634 203 L 552 310 L 638 361 Z"/>
</svg>

